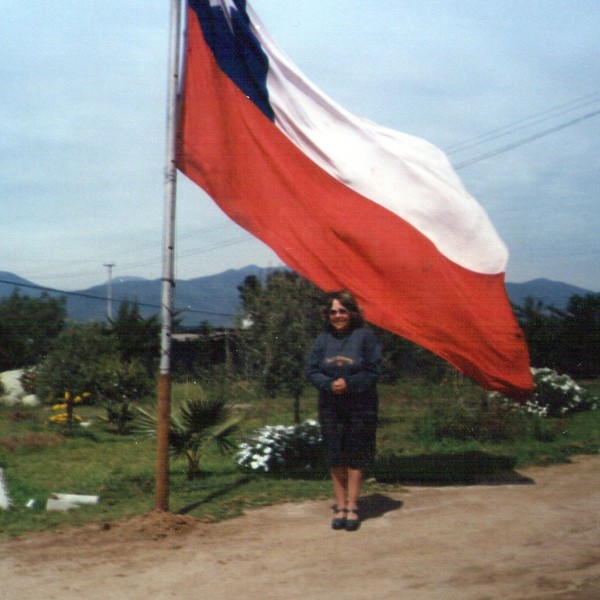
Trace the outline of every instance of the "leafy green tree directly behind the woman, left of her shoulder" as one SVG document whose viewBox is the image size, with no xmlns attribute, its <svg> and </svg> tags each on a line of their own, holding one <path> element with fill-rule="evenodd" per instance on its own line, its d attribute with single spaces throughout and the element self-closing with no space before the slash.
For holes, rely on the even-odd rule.
<svg viewBox="0 0 600 600">
<path fill-rule="evenodd" d="M 251 323 L 245 334 L 250 371 L 268 397 L 281 392 L 292 396 L 294 420 L 299 423 L 300 397 L 306 386 L 304 363 L 321 330 L 323 293 L 287 270 L 272 272 L 265 285 L 249 276 L 238 290 Z"/>
</svg>

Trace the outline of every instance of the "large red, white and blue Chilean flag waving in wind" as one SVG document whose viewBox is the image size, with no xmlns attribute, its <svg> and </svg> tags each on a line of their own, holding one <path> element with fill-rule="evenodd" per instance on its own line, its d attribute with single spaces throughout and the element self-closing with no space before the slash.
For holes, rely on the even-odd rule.
<svg viewBox="0 0 600 600">
<path fill-rule="evenodd" d="M 533 390 L 507 250 L 446 156 L 328 98 L 245 0 L 188 1 L 177 166 L 371 323 L 487 389 Z"/>
</svg>

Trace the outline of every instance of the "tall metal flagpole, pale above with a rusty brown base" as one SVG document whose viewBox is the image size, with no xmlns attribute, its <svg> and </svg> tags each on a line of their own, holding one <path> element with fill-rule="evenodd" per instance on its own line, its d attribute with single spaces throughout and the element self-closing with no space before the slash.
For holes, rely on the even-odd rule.
<svg viewBox="0 0 600 600">
<path fill-rule="evenodd" d="M 160 372 L 157 389 L 155 508 L 169 510 L 169 425 L 171 421 L 171 333 L 175 288 L 176 135 L 179 94 L 181 0 L 171 0 L 165 156 Z"/>
</svg>

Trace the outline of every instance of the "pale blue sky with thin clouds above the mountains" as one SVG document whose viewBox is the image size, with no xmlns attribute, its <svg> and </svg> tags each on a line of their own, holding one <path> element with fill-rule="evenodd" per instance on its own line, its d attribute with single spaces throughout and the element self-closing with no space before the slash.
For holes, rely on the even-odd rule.
<svg viewBox="0 0 600 600">
<path fill-rule="evenodd" d="M 254 0 L 356 114 L 448 153 L 509 282 L 600 291 L 600 2 Z M 4 0 L 0 271 L 61 290 L 162 273 L 169 2 Z M 179 175 L 176 268 L 281 265 Z"/>
</svg>

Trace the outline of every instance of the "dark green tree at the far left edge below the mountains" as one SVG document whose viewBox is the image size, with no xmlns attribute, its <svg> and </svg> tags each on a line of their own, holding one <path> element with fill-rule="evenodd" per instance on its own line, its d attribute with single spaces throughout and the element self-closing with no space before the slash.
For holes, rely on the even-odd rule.
<svg viewBox="0 0 600 600">
<path fill-rule="evenodd" d="M 37 364 L 64 328 L 65 319 L 65 298 L 52 298 L 47 292 L 30 298 L 16 289 L 0 301 L 0 370 Z"/>
</svg>

